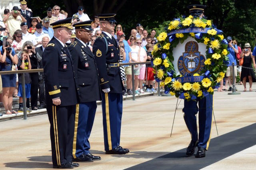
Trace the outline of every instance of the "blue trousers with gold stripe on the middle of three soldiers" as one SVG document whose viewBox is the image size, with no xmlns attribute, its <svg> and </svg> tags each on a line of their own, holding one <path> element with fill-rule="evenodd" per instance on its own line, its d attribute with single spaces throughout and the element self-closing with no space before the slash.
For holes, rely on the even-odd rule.
<svg viewBox="0 0 256 170">
<path fill-rule="evenodd" d="M 76 105 L 75 133 L 73 146 L 74 158 L 90 153 L 89 137 L 96 113 L 96 101 Z"/>
</svg>

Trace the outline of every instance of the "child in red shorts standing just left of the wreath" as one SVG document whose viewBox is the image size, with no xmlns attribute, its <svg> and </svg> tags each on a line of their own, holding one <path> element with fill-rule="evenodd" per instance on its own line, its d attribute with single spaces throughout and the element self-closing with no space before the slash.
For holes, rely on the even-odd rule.
<svg viewBox="0 0 256 170">
<path fill-rule="evenodd" d="M 151 53 L 153 49 L 152 44 L 147 44 L 146 46 L 147 49 L 147 56 L 148 59 L 147 61 L 152 61 L 153 55 Z M 146 92 L 156 92 L 156 90 L 153 88 L 153 80 L 154 80 L 154 73 L 153 73 L 153 66 L 150 64 L 146 64 Z"/>
</svg>

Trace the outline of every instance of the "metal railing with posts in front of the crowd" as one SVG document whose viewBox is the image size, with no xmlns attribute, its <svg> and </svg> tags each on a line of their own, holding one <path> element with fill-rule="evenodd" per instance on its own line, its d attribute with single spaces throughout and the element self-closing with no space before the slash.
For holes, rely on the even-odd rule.
<svg viewBox="0 0 256 170">
<path fill-rule="evenodd" d="M 124 65 L 131 65 L 132 66 L 132 100 L 135 100 L 135 84 L 134 84 L 134 65 L 138 64 L 151 64 L 150 61 L 146 62 L 136 62 L 136 63 L 120 63 L 120 66 Z M 31 69 L 31 70 L 13 70 L 13 71 L 0 71 L 0 75 L 4 74 L 22 74 L 22 103 L 23 103 L 23 119 L 27 119 L 27 109 L 26 109 L 26 91 L 25 91 L 25 77 L 24 73 L 32 73 L 32 72 L 44 72 L 43 68 L 40 69 Z M 140 87 L 142 88 L 142 87 Z M 160 82 L 158 82 L 158 96 L 161 96 L 160 94 Z"/>
</svg>

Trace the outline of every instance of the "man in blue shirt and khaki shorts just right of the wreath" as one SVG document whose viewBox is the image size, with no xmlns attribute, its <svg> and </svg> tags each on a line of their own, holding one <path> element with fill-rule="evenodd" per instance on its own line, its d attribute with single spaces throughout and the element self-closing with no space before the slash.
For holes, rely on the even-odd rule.
<svg viewBox="0 0 256 170">
<path fill-rule="evenodd" d="M 232 74 L 232 63 L 234 62 L 234 74 L 235 74 L 235 81 L 236 82 L 236 75 L 237 75 L 237 68 L 236 68 L 236 54 L 238 53 L 238 47 L 237 45 L 233 45 L 233 41 L 232 41 L 232 37 L 228 36 L 227 37 L 227 41 L 228 41 L 228 51 L 229 51 L 229 54 L 227 55 L 228 56 L 228 59 L 229 59 L 229 63 L 228 63 L 228 68 L 227 68 L 227 72 L 226 72 L 226 76 L 228 78 L 226 78 L 228 80 L 228 84 L 229 84 L 229 89 L 228 91 L 232 91 L 232 87 L 231 87 L 231 74 Z M 227 86 L 227 85 L 226 85 Z"/>
</svg>

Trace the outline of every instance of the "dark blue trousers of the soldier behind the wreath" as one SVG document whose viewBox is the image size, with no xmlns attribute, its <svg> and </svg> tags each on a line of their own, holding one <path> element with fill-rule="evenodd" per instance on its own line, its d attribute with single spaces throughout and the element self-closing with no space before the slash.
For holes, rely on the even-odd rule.
<svg viewBox="0 0 256 170">
<path fill-rule="evenodd" d="M 184 100 L 184 108 L 182 109 L 184 112 L 184 120 L 191 134 L 192 140 L 198 140 L 198 146 L 201 146 L 206 150 L 209 147 L 211 138 L 212 104 L 213 96 L 209 94 L 202 99 L 198 99 L 197 101 L 190 100 L 188 102 Z M 196 113 L 198 111 L 199 136 L 196 125 Z"/>
</svg>

